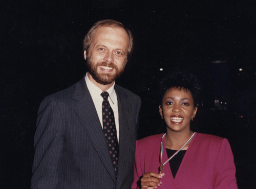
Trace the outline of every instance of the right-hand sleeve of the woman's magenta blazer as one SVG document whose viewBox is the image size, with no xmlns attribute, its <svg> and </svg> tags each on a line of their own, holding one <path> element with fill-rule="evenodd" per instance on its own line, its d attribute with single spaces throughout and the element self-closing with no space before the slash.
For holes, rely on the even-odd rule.
<svg viewBox="0 0 256 189">
<path fill-rule="evenodd" d="M 220 146 L 214 174 L 215 189 L 237 189 L 236 167 L 233 154 L 226 138 Z"/>
</svg>

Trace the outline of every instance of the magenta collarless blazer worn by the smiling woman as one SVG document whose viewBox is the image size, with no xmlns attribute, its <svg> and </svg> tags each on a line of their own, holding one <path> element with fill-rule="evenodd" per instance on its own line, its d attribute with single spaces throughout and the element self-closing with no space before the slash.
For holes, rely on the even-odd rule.
<svg viewBox="0 0 256 189">
<path fill-rule="evenodd" d="M 133 188 L 139 188 L 139 178 L 147 172 L 158 173 L 160 146 L 163 134 L 148 136 L 136 141 Z M 165 144 L 163 140 L 163 149 Z M 163 150 L 163 162 L 167 160 Z M 158 188 L 176 189 L 233 189 L 238 188 L 233 154 L 226 138 L 196 133 L 183 157 L 179 170 L 173 178 L 166 163 L 163 184 Z"/>
</svg>

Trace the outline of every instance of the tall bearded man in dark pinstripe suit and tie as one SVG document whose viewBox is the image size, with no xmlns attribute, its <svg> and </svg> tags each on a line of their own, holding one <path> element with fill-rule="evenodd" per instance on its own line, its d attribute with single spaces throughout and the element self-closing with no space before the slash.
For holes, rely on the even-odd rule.
<svg viewBox="0 0 256 189">
<path fill-rule="evenodd" d="M 31 188 L 131 188 L 141 100 L 115 80 L 131 56 L 132 34 L 100 20 L 83 48 L 86 76 L 39 107 Z"/>
</svg>

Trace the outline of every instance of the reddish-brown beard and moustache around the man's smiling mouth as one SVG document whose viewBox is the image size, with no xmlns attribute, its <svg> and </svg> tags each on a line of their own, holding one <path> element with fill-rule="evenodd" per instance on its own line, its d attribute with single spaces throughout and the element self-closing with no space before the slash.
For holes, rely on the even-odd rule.
<svg viewBox="0 0 256 189">
<path fill-rule="evenodd" d="M 112 73 L 98 73 L 98 67 L 102 66 L 109 66 L 116 70 L 116 73 L 113 75 Z M 89 73 L 92 75 L 93 79 L 102 85 L 108 85 L 114 82 L 117 78 L 119 78 L 122 73 L 124 72 L 124 66 L 121 67 L 121 69 L 118 69 L 118 67 L 111 63 L 106 62 L 98 62 L 97 64 L 93 64 L 90 57 L 87 57 L 87 68 L 89 70 Z"/>
</svg>

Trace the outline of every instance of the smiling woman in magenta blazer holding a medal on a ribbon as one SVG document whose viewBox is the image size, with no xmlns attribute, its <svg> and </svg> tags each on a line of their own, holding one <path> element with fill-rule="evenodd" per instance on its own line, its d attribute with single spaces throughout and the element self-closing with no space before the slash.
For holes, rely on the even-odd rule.
<svg viewBox="0 0 256 189">
<path fill-rule="evenodd" d="M 159 112 L 167 132 L 137 140 L 132 188 L 237 188 L 228 140 L 190 130 L 198 79 L 177 72 L 160 88 Z"/>
</svg>

